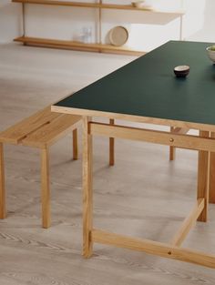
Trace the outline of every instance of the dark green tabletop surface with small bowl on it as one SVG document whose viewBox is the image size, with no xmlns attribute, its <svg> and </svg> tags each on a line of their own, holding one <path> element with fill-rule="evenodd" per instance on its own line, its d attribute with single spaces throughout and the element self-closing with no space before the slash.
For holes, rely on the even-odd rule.
<svg viewBox="0 0 215 285">
<path fill-rule="evenodd" d="M 56 106 L 215 125 L 215 66 L 206 53 L 211 45 L 169 41 Z M 190 66 L 187 78 L 173 73 L 182 65 Z"/>
</svg>

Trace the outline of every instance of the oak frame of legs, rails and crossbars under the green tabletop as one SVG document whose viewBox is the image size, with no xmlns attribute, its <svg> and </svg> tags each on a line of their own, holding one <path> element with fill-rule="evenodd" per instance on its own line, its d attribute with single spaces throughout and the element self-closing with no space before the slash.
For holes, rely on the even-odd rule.
<svg viewBox="0 0 215 285">
<path fill-rule="evenodd" d="M 54 107 L 54 110 L 57 109 L 58 111 L 61 110 L 62 112 L 61 107 Z M 65 108 L 65 110 L 67 112 L 68 108 Z M 87 111 L 85 113 L 87 113 Z M 159 124 L 161 124 L 161 122 L 159 122 Z M 167 125 L 167 122 L 164 125 Z M 196 128 L 196 124 L 193 124 L 193 126 Z M 189 126 L 188 123 L 185 127 L 191 126 Z M 200 136 L 191 136 L 187 135 L 186 131 L 182 130 L 182 127 L 182 131 L 172 132 L 173 128 L 171 127 L 170 131 L 166 132 L 137 127 L 123 127 L 113 125 L 113 122 L 112 124 L 96 123 L 92 121 L 91 117 L 83 117 L 84 257 L 89 258 L 92 255 L 93 243 L 97 242 L 125 249 L 143 251 L 172 260 L 187 261 L 209 268 L 215 268 L 215 255 L 207 254 L 205 252 L 193 249 L 180 248 L 181 243 L 188 235 L 189 229 L 195 225 L 196 220 L 205 222 L 207 221 L 209 201 L 214 202 L 215 200 L 213 191 L 214 178 L 212 176 L 212 172 L 210 171 L 210 166 L 212 169 L 215 168 L 212 161 L 214 159 L 215 153 L 215 136 L 213 132 L 214 126 L 205 125 L 204 127 L 207 130 L 200 130 Z M 212 132 L 210 132 L 209 129 L 211 129 Z M 188 148 L 199 151 L 197 200 L 195 201 L 193 209 L 191 209 L 189 216 L 184 219 L 179 230 L 176 232 L 174 237 L 170 239 L 169 243 L 161 243 L 149 239 L 133 239 L 127 236 L 93 228 L 93 136 L 127 138 L 161 145 L 168 145 L 171 148 Z"/>
</svg>

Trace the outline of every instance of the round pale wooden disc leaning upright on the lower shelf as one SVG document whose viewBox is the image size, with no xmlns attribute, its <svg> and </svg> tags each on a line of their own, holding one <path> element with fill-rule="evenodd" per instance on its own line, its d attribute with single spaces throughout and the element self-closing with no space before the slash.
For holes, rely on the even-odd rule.
<svg viewBox="0 0 215 285">
<path fill-rule="evenodd" d="M 113 27 L 109 31 L 109 41 L 113 46 L 123 46 L 128 41 L 128 30 L 122 25 Z"/>
</svg>

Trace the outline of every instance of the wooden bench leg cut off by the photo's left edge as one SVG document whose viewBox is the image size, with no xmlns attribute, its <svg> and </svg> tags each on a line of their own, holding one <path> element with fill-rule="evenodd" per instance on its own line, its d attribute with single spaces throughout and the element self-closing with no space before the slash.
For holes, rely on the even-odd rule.
<svg viewBox="0 0 215 285">
<path fill-rule="evenodd" d="M 4 166 L 4 148 L 0 143 L 0 219 L 5 219 L 5 166 Z"/>
</svg>

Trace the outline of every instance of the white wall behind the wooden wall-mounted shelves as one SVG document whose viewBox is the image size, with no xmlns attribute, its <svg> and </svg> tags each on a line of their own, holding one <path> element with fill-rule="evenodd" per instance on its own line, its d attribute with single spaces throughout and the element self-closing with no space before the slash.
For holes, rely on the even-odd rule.
<svg viewBox="0 0 215 285">
<path fill-rule="evenodd" d="M 75 0 L 77 1 L 77 0 Z M 94 0 L 78 0 L 94 2 Z M 181 0 L 150 0 L 167 9 L 177 9 Z M 106 0 L 119 3 L 119 0 Z M 130 0 L 120 0 L 129 4 Z M 215 42 L 215 1 L 184 0 L 187 13 L 183 19 L 183 36 L 189 40 Z M 0 0 L 0 43 L 22 36 L 22 5 Z M 26 36 L 58 39 L 77 39 L 84 27 L 91 27 L 92 40 L 97 38 L 96 9 L 81 9 L 65 6 L 26 5 Z M 141 12 L 103 10 L 103 41 L 107 41 L 108 30 L 114 25 L 125 25 L 129 31 L 128 45 L 150 50 L 169 39 L 179 39 L 179 18 L 169 15 L 152 15 Z"/>
</svg>

